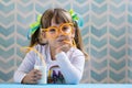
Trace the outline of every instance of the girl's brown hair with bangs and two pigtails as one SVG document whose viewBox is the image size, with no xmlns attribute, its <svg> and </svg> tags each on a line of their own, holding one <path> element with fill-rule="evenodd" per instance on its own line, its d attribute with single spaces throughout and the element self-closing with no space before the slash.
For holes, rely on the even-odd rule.
<svg viewBox="0 0 132 88">
<path fill-rule="evenodd" d="M 47 29 L 48 26 L 51 26 L 51 22 L 52 20 L 55 21 L 55 23 L 59 24 L 59 23 L 74 23 L 74 28 L 75 30 L 75 43 L 77 45 L 77 48 L 79 48 L 86 57 L 88 57 L 87 53 L 84 52 L 84 47 L 82 47 L 82 40 L 81 40 L 81 35 L 80 35 L 80 31 L 79 28 L 77 25 L 76 21 L 73 21 L 72 15 L 69 14 L 68 11 L 61 9 L 61 8 L 56 8 L 56 9 L 48 9 L 46 10 L 42 18 L 41 18 L 41 28 L 42 29 Z M 40 43 L 40 28 L 38 30 L 32 35 L 31 38 L 31 46 L 33 46 L 34 44 Z"/>
</svg>

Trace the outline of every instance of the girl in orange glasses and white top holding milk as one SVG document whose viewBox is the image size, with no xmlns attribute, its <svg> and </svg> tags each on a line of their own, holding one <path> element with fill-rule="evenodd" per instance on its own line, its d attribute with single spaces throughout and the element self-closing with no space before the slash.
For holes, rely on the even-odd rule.
<svg viewBox="0 0 132 88">
<path fill-rule="evenodd" d="M 48 67 L 47 82 L 78 84 L 82 77 L 87 54 L 82 50 L 77 22 L 64 9 L 48 9 L 41 18 L 40 28 L 32 34 L 30 46 L 36 48 L 45 58 Z M 40 35 L 43 43 L 37 38 Z M 14 73 L 14 81 L 37 84 L 42 73 L 34 69 L 35 62 L 35 54 L 29 52 Z"/>
</svg>

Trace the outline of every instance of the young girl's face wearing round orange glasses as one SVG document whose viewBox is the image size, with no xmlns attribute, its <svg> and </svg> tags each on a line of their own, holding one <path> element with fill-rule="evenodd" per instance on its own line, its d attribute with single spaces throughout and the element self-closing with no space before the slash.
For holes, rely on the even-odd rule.
<svg viewBox="0 0 132 88">
<path fill-rule="evenodd" d="M 46 29 L 46 37 L 50 46 L 56 48 L 66 42 L 73 43 L 75 30 L 73 23 L 55 23 L 51 22 L 51 26 Z"/>
</svg>

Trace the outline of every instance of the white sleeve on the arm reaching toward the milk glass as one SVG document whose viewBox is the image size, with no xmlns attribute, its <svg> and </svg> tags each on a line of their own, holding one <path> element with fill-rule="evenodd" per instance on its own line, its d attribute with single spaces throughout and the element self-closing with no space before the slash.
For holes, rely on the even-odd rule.
<svg viewBox="0 0 132 88">
<path fill-rule="evenodd" d="M 18 70 L 14 73 L 13 79 L 14 82 L 21 82 L 24 76 L 34 68 L 35 63 L 35 54 L 34 52 L 30 52 L 26 54 L 22 64 L 19 66 Z"/>
</svg>

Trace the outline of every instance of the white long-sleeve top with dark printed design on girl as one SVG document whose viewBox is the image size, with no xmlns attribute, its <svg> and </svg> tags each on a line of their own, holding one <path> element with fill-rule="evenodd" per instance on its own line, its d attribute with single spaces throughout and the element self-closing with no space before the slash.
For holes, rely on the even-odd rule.
<svg viewBox="0 0 132 88">
<path fill-rule="evenodd" d="M 51 58 L 51 51 L 48 45 L 36 45 L 36 48 L 43 56 L 48 68 L 50 84 L 78 84 L 81 79 L 85 56 L 84 54 L 72 47 L 67 53 L 61 52 L 55 56 L 55 61 Z M 22 64 L 14 73 L 14 82 L 21 82 L 24 76 L 34 68 L 36 62 L 36 54 L 31 51 L 24 57 Z M 63 78 L 64 80 L 63 80 Z M 58 78 L 58 79 L 57 79 Z"/>
</svg>

